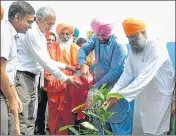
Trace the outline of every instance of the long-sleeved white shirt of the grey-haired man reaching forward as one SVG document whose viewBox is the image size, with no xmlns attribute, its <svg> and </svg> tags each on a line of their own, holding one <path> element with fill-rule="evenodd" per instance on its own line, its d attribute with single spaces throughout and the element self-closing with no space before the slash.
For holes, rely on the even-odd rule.
<svg viewBox="0 0 176 136">
<path fill-rule="evenodd" d="M 18 70 L 39 74 L 44 68 L 56 78 L 67 80 L 68 77 L 60 70 L 60 68 L 65 69 L 66 65 L 50 58 L 45 34 L 40 31 L 36 22 L 33 23 L 32 29 L 29 29 L 26 34 L 20 34 L 19 37 L 17 40 Z"/>
</svg>

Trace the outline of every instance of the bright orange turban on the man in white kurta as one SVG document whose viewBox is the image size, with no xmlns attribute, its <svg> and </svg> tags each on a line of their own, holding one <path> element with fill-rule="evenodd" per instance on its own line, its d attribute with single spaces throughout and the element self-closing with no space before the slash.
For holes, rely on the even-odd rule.
<svg viewBox="0 0 176 136">
<path fill-rule="evenodd" d="M 143 21 L 133 18 L 125 19 L 122 25 L 126 35 L 131 35 L 140 31 L 144 31 L 146 28 L 146 24 Z"/>
</svg>

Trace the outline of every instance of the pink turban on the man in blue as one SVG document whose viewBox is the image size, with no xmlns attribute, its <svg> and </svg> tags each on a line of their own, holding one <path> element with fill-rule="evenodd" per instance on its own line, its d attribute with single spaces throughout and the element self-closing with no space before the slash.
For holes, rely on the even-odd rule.
<svg viewBox="0 0 176 136">
<path fill-rule="evenodd" d="M 95 34 L 100 32 L 104 34 L 106 38 L 109 38 L 112 34 L 113 26 L 111 24 L 106 24 L 93 19 L 90 25 Z"/>
</svg>

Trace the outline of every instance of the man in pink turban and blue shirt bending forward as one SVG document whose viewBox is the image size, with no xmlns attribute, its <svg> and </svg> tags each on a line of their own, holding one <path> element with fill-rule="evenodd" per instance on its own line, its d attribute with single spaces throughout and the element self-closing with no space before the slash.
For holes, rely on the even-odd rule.
<svg viewBox="0 0 176 136">
<path fill-rule="evenodd" d="M 106 87 L 111 88 L 123 72 L 127 47 L 119 43 L 116 36 L 112 34 L 113 26 L 111 24 L 94 19 L 91 22 L 91 28 L 94 34 L 83 44 L 78 52 L 81 75 L 84 78 L 88 77 L 89 67 L 86 65 L 86 56 L 94 50 L 96 67 L 93 87 L 99 89 L 106 83 Z M 131 134 L 130 104 L 125 99 L 122 99 L 118 105 L 109 110 L 116 113 L 106 122 L 105 129 L 112 129 L 114 135 Z M 98 124 L 92 123 L 96 127 L 98 126 Z M 101 127 L 98 127 L 98 129 L 101 134 L 104 134 L 104 130 Z"/>
</svg>

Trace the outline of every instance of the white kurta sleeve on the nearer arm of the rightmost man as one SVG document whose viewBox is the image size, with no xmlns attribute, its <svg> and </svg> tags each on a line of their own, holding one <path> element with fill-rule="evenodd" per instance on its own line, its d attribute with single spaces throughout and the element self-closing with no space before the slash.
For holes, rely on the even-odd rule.
<svg viewBox="0 0 176 136">
<path fill-rule="evenodd" d="M 167 50 L 165 48 L 157 50 L 155 46 L 152 46 L 147 52 L 147 60 L 141 63 L 141 71 L 136 79 L 125 88 L 121 90 L 114 88 L 110 92 L 118 92 L 123 95 L 127 101 L 132 101 L 143 90 L 142 88 L 154 78 L 166 61 L 166 52 Z M 119 83 L 120 81 L 117 84 Z"/>
</svg>

